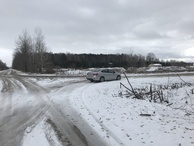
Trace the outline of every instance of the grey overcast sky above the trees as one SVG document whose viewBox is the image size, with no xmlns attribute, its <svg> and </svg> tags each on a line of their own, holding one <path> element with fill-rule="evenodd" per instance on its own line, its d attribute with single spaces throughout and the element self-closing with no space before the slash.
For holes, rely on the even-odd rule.
<svg viewBox="0 0 194 146">
<path fill-rule="evenodd" d="M 52 52 L 194 61 L 194 0 L 0 0 L 0 59 L 39 27 Z"/>
</svg>

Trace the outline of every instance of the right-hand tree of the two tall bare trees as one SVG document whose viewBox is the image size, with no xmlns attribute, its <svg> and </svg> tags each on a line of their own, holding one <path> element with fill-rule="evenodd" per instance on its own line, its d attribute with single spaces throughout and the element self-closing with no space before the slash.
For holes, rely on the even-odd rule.
<svg viewBox="0 0 194 146">
<path fill-rule="evenodd" d="M 40 28 L 35 29 L 34 35 L 34 63 L 39 72 L 43 72 L 43 68 L 48 60 L 47 47 L 44 35 Z"/>
</svg>

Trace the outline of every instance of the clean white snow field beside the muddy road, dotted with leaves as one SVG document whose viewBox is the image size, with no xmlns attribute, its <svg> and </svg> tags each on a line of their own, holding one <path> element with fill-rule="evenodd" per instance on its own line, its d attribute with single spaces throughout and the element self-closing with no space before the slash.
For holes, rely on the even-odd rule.
<svg viewBox="0 0 194 146">
<path fill-rule="evenodd" d="M 96 131 L 90 133 L 89 138 L 97 134 L 110 146 L 194 146 L 194 76 L 184 75 L 181 79 L 168 75 L 129 77 L 133 87 L 137 88 L 149 84 L 191 83 L 191 86 L 168 90 L 166 96 L 172 104 L 167 106 L 167 103 L 120 96 L 119 93 L 125 91 L 120 88 L 120 82 L 128 86 L 125 78 L 103 83 L 90 83 L 81 77 L 31 78 L 40 86 L 50 89 L 48 96 L 61 111 L 67 108 L 75 111 L 74 116 L 69 115 L 75 125 L 77 121 L 84 120 Z M 73 86 L 66 87 L 69 83 L 73 83 Z M 77 127 L 84 129 L 80 123 Z M 44 122 L 32 132 L 26 132 L 23 146 L 39 145 L 40 141 L 43 141 L 41 146 L 47 146 L 41 129 L 48 129 Z M 59 145 L 57 142 L 55 144 Z"/>
</svg>

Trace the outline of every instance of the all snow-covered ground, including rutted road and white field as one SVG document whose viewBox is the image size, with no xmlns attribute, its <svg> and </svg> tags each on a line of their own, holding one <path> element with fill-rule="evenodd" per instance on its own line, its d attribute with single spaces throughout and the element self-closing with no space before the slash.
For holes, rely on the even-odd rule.
<svg viewBox="0 0 194 146">
<path fill-rule="evenodd" d="M 75 133 L 87 142 L 77 137 L 74 145 L 194 145 L 193 73 L 127 75 L 134 88 L 173 85 L 163 90 L 168 103 L 162 104 L 125 95 L 120 87 L 120 82 L 129 87 L 125 78 L 91 83 L 79 72 L 69 72 L 76 73 L 78 77 L 0 72 L 0 145 L 20 144 L 23 131 L 23 146 L 68 145 Z M 64 139 L 72 129 L 73 138 Z"/>
</svg>

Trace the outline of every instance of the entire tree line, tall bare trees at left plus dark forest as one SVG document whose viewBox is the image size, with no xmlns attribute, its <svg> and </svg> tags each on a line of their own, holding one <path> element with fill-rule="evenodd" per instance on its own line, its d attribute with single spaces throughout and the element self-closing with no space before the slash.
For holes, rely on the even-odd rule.
<svg viewBox="0 0 194 146">
<path fill-rule="evenodd" d="M 160 63 L 163 66 L 187 66 L 186 62 L 160 61 L 154 53 L 140 54 L 72 54 L 48 52 L 41 29 L 31 36 L 27 30 L 19 35 L 13 55 L 12 68 L 24 72 L 51 71 L 54 68 L 93 67 L 147 67 Z"/>
</svg>

